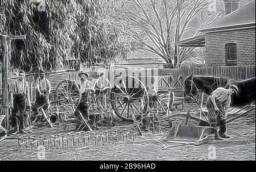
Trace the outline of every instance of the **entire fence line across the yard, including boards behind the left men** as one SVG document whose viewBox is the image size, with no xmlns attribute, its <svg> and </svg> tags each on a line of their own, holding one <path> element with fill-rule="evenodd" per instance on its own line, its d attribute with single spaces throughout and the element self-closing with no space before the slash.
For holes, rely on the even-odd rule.
<svg viewBox="0 0 256 172">
<path fill-rule="evenodd" d="M 152 76 L 154 77 L 171 76 L 173 78 L 173 81 L 176 81 L 176 79 L 179 77 L 186 78 L 191 73 L 195 75 L 211 75 L 215 77 L 229 77 L 234 80 L 255 77 L 255 66 L 216 66 L 216 67 L 206 67 L 206 68 L 189 68 L 189 66 L 182 66 L 179 69 L 139 69 L 139 70 L 131 69 L 131 71 L 130 69 L 129 71 L 127 69 L 125 73 L 123 71 L 124 70 L 120 70 L 120 69 L 117 69 L 117 70 L 112 69 L 106 74 L 106 76 L 108 77 L 112 85 L 120 73 L 122 73 L 123 77 L 130 75 L 138 78 L 140 81 L 142 81 L 142 83 L 144 83 L 145 86 L 150 85 L 149 82 L 151 81 Z M 49 77 L 49 80 L 50 82 L 53 82 L 55 80 L 59 81 L 58 79 L 61 79 L 61 80 L 73 79 L 77 81 L 78 73 L 79 72 L 68 72 L 68 73 L 61 73 L 58 75 L 53 74 L 52 75 L 53 78 Z M 168 78 L 167 78 L 167 81 L 168 81 Z M 51 83 L 51 84 L 52 84 L 52 89 L 55 90 L 57 82 Z M 30 89 L 31 100 L 34 101 L 35 86 L 32 80 L 29 81 L 29 89 Z"/>
</svg>

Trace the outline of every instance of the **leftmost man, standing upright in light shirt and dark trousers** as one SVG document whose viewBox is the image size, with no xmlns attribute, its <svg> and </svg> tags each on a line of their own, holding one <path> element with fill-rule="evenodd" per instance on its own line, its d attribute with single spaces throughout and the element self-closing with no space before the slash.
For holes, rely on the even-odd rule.
<svg viewBox="0 0 256 172">
<path fill-rule="evenodd" d="M 27 118 L 26 106 L 31 108 L 28 83 L 25 81 L 25 72 L 20 70 L 19 78 L 10 84 L 11 98 L 11 119 L 10 125 L 13 128 L 9 133 L 26 134 L 23 131 L 24 122 Z"/>
</svg>

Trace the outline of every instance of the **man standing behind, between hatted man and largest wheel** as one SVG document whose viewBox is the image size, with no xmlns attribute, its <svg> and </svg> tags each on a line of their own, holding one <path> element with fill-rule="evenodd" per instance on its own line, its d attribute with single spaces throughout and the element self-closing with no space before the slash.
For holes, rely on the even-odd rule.
<svg viewBox="0 0 256 172">
<path fill-rule="evenodd" d="M 102 106 L 106 108 L 106 94 L 108 93 L 108 89 L 110 88 L 110 83 L 107 78 L 105 78 L 104 72 L 100 73 L 100 78 L 95 84 L 95 95 L 96 102 L 98 106 Z"/>
</svg>

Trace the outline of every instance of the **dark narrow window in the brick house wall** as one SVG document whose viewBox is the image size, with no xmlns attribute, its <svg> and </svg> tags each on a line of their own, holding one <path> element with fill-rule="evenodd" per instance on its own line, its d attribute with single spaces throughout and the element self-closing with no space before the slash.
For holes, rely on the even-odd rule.
<svg viewBox="0 0 256 172">
<path fill-rule="evenodd" d="M 225 59 L 227 66 L 236 66 L 237 65 L 237 44 L 228 43 L 225 44 Z"/>
</svg>

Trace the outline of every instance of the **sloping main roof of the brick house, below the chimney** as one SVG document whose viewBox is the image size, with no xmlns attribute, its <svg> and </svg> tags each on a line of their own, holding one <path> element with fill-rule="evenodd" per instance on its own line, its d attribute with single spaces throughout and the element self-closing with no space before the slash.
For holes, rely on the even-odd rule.
<svg viewBox="0 0 256 172">
<path fill-rule="evenodd" d="M 210 32 L 244 27 L 255 27 L 255 0 L 199 31 Z"/>
</svg>

